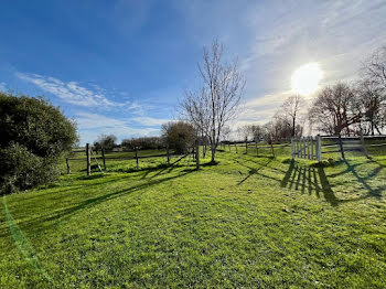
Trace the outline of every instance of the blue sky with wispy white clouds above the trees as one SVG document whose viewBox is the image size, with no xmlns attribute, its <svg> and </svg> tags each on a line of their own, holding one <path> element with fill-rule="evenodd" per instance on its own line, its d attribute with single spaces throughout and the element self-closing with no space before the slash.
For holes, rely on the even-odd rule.
<svg viewBox="0 0 386 289">
<path fill-rule="evenodd" d="M 320 87 L 355 82 L 386 45 L 386 1 L 3 0 L 0 34 L 0 90 L 44 95 L 84 144 L 159 135 L 214 39 L 246 78 L 233 127 L 268 121 L 304 64 L 319 64 Z"/>
</svg>

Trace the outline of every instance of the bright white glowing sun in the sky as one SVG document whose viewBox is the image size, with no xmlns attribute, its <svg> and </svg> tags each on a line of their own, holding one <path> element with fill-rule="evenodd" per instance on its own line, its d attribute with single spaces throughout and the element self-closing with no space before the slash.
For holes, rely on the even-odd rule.
<svg viewBox="0 0 386 289">
<path fill-rule="evenodd" d="M 296 69 L 291 77 L 293 93 L 303 96 L 317 92 L 319 82 L 323 77 L 323 72 L 318 63 L 308 63 Z"/>
</svg>

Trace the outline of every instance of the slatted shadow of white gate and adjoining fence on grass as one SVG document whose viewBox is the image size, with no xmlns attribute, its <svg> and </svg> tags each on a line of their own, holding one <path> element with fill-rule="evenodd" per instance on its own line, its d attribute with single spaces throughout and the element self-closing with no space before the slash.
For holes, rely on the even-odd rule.
<svg viewBox="0 0 386 289">
<path fill-rule="evenodd" d="M 366 164 L 368 162 L 372 162 L 372 161 L 366 161 L 365 163 L 351 164 L 347 160 L 342 160 L 340 161 L 340 163 L 344 163 L 346 165 L 346 169 L 343 170 L 342 172 L 334 173 L 329 176 L 329 178 L 334 178 L 337 175 L 344 175 L 349 173 L 354 175 L 355 179 L 367 191 L 365 195 L 362 195 L 355 199 L 340 200 L 339 197 L 336 197 L 334 191 L 332 190 L 332 185 L 329 182 L 329 178 L 325 174 L 325 171 L 324 171 L 325 165 L 323 164 L 300 167 L 292 160 L 288 168 L 288 171 L 286 172 L 285 178 L 280 182 L 280 185 L 282 188 L 288 188 L 288 189 L 294 188 L 294 190 L 301 191 L 302 193 L 305 193 L 305 190 L 307 190 L 309 194 L 311 194 L 314 191 L 318 197 L 320 197 L 320 193 L 323 193 L 325 201 L 328 201 L 332 206 L 337 206 L 341 203 L 360 201 L 367 197 L 374 197 L 374 196 L 380 197 L 382 192 L 386 189 L 386 185 L 382 185 L 380 188 L 373 189 L 368 184 L 368 180 L 376 176 L 383 168 L 377 167 L 375 170 L 369 172 L 366 176 L 361 176 L 357 173 L 357 167 L 362 164 Z"/>
</svg>

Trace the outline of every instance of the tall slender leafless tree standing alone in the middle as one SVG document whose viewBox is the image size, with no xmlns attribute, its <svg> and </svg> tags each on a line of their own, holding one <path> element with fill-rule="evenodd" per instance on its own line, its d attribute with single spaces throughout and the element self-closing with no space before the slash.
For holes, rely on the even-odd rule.
<svg viewBox="0 0 386 289">
<path fill-rule="evenodd" d="M 215 162 L 223 129 L 237 114 L 245 85 L 237 60 L 225 63 L 223 51 L 217 41 L 210 50 L 204 47 L 203 64 L 199 64 L 202 87 L 197 92 L 186 92 L 180 104 L 182 117 L 207 137 L 212 162 Z"/>
</svg>

